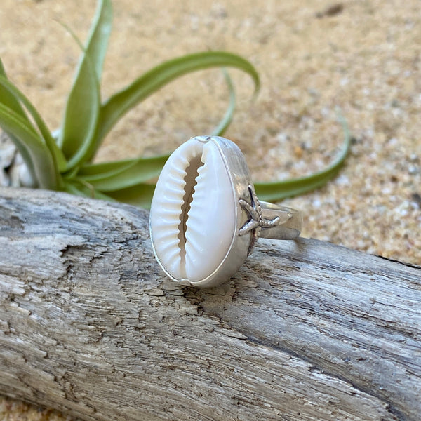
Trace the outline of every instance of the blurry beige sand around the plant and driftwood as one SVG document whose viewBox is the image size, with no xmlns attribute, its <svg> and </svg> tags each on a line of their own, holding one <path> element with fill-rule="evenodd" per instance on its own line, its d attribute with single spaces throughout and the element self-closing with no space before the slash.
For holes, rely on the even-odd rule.
<svg viewBox="0 0 421 421">
<path fill-rule="evenodd" d="M 335 6 L 337 5 L 337 6 Z M 421 264 L 421 4 L 419 0 L 114 1 L 102 95 L 163 60 L 225 50 L 258 69 L 262 89 L 233 71 L 239 104 L 226 137 L 255 180 L 306 175 L 353 135 L 338 178 L 283 203 L 305 213 L 304 236 Z M 59 125 L 95 1 L 2 0 L 0 56 L 10 78 Z M 98 160 L 168 152 L 207 134 L 227 105 L 221 72 L 175 81 L 116 126 Z M 58 420 L 0 398 L 0 420 Z"/>
</svg>

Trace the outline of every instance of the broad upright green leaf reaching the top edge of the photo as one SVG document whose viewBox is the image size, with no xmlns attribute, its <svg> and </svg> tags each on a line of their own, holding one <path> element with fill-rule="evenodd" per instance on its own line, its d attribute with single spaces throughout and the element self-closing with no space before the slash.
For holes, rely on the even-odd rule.
<svg viewBox="0 0 421 421">
<path fill-rule="evenodd" d="M 99 81 L 111 31 L 111 21 L 111 1 L 102 0 L 98 4 L 91 35 L 83 51 L 76 79 L 67 100 L 60 132 L 60 145 L 69 160 L 68 168 L 79 165 L 95 150 L 94 136 L 100 112 Z M 74 36 L 72 32 L 71 34 Z M 79 44 L 76 36 L 74 38 Z"/>
</svg>

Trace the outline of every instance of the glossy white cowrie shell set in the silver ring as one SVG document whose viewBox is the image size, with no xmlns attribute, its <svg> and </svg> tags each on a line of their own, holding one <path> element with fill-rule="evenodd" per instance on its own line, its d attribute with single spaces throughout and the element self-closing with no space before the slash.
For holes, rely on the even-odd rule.
<svg viewBox="0 0 421 421">
<path fill-rule="evenodd" d="M 227 159 L 230 152 L 236 155 L 239 149 L 224 138 L 192 138 L 171 154 L 156 183 L 150 213 L 152 245 L 174 281 L 212 286 L 246 258 L 248 239 L 241 237 L 245 246 L 227 262 L 243 223 L 237 218 L 241 208 Z"/>
</svg>

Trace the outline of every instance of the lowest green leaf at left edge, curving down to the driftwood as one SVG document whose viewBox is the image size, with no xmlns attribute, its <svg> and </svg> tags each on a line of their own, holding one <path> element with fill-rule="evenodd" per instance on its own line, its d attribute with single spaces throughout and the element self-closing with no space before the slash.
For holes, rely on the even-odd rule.
<svg viewBox="0 0 421 421">
<path fill-rule="evenodd" d="M 25 150 L 25 154 L 34 166 L 34 175 L 39 187 L 54 190 L 57 188 L 55 166 L 51 152 L 41 140 L 34 128 L 12 109 L 0 104 L 0 126 L 4 131 L 13 135 L 19 149 Z"/>
</svg>

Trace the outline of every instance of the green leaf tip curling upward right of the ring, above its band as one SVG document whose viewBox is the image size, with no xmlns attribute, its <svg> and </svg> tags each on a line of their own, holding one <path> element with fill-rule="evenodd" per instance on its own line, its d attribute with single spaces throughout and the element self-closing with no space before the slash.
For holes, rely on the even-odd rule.
<svg viewBox="0 0 421 421">
<path fill-rule="evenodd" d="M 281 199 L 285 199 L 286 197 L 298 196 L 299 194 L 310 192 L 325 185 L 338 174 L 338 171 L 347 158 L 349 147 L 351 145 L 351 135 L 349 134 L 347 122 L 340 114 L 338 115 L 338 119 L 342 125 L 345 140 L 342 146 L 342 151 L 335 161 L 333 161 L 333 163 L 324 170 L 305 177 L 291 178 L 290 180 L 279 182 L 255 183 L 256 194 L 258 194 L 259 199 L 263 201 L 279 201 Z"/>
</svg>

